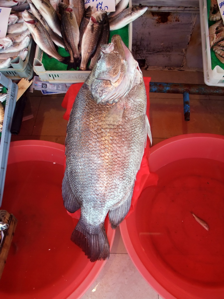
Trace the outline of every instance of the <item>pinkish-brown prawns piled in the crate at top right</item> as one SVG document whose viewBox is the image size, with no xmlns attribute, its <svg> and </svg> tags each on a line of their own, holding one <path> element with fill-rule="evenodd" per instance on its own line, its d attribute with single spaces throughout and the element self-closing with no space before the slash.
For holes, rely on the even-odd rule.
<svg viewBox="0 0 224 299">
<path fill-rule="evenodd" d="M 224 24 L 217 0 L 211 0 L 208 19 L 209 21 L 217 21 L 208 30 L 210 48 L 213 49 L 216 57 L 224 63 Z"/>
</svg>

